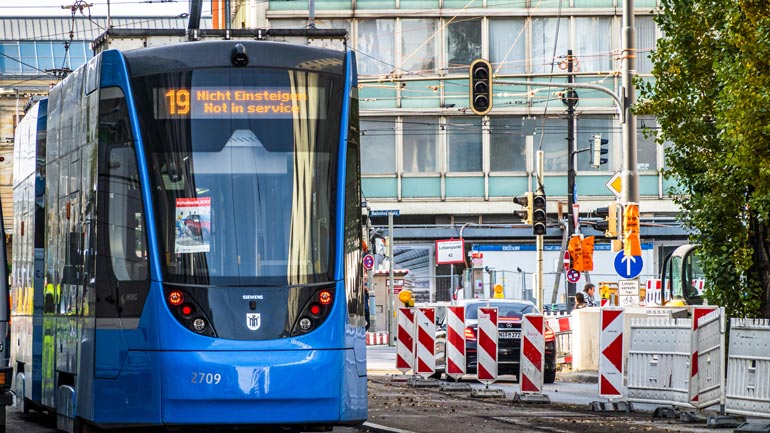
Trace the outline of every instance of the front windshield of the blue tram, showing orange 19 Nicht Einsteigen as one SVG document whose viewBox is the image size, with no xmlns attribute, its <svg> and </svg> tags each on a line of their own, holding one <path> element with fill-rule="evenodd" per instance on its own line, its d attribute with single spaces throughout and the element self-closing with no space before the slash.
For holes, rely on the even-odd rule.
<svg viewBox="0 0 770 433">
<path fill-rule="evenodd" d="M 212 68 L 132 86 L 165 281 L 332 279 L 341 77 Z"/>
</svg>

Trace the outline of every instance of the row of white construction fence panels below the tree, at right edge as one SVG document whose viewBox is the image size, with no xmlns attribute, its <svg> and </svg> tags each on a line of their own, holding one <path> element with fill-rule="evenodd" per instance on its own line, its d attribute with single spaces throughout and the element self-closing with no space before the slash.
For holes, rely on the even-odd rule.
<svg viewBox="0 0 770 433">
<path fill-rule="evenodd" d="M 770 417 L 770 321 L 731 319 L 729 347 L 726 328 L 717 307 L 694 307 L 691 319 L 632 319 L 628 400 Z"/>
</svg>

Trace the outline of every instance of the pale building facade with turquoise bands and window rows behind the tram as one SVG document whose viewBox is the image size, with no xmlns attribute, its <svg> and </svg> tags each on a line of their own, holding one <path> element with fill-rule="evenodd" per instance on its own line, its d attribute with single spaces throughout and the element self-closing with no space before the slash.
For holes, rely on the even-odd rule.
<svg viewBox="0 0 770 433">
<path fill-rule="evenodd" d="M 635 73 L 642 81 L 652 78 L 648 55 L 659 36 L 653 21 L 658 6 L 656 0 L 635 1 Z M 571 50 L 574 82 L 621 94 L 622 13 L 623 0 L 247 0 L 238 4 L 234 22 L 348 30 L 360 77 L 365 200 L 373 210 L 398 211 L 395 265 L 409 269 L 415 290 L 423 289 L 418 299 L 441 301 L 457 286 L 477 281 L 460 279 L 472 267 L 470 259 L 437 263 L 440 239 L 463 238 L 466 253 L 488 251 L 496 269 L 482 274 L 487 290 L 501 278 L 506 290 L 515 286 L 513 292 L 522 294 L 531 288 L 531 261 L 513 255 L 505 262 L 492 251 L 526 251 L 535 243 L 513 198 L 537 190 L 539 151 L 548 197 L 545 242 L 552 251 L 545 278 L 558 279 L 562 260 L 556 256 L 565 224 L 572 223 L 564 219 L 570 95 L 564 88 L 511 81 L 566 82 Z M 488 59 L 495 76 L 493 108 L 485 116 L 469 107 L 468 67 L 477 58 Z M 592 212 L 616 200 L 606 184 L 622 168 L 620 116 L 609 95 L 577 89 L 575 96 L 581 232 L 596 235 L 607 252 L 597 257 L 611 260 L 610 240 L 593 230 L 601 218 Z M 686 242 L 686 234 L 674 220 L 677 208 L 667 192 L 671 181 L 662 175 L 664 146 L 655 142 L 655 119 L 638 117 L 636 123 L 641 235 L 651 250 L 645 253 L 651 263 L 645 263 L 643 282 L 656 276 L 665 254 Z M 595 136 L 608 140 L 608 161 L 599 167 L 592 166 L 589 151 Z M 387 231 L 385 217 L 372 221 Z M 619 278 L 611 263 L 599 265 L 594 281 Z M 588 278 L 581 277 L 580 287 Z M 563 288 L 553 288 L 553 296 L 551 288 L 544 290 L 546 300 L 564 302 Z"/>
</svg>

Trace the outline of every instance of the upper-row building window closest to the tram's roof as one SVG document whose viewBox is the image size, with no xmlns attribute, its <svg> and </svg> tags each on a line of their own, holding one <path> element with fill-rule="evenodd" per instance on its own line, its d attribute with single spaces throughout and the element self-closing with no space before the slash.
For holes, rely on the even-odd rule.
<svg viewBox="0 0 770 433">
<path fill-rule="evenodd" d="M 358 21 L 358 73 L 385 75 L 395 69 L 394 20 Z"/>
</svg>

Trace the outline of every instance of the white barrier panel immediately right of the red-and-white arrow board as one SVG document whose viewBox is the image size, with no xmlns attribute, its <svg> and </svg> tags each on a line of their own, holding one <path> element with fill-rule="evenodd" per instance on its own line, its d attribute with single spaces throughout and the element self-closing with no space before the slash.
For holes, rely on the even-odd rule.
<svg viewBox="0 0 770 433">
<path fill-rule="evenodd" d="M 631 319 L 628 399 L 689 404 L 691 348 L 690 319 Z"/>
</svg>

